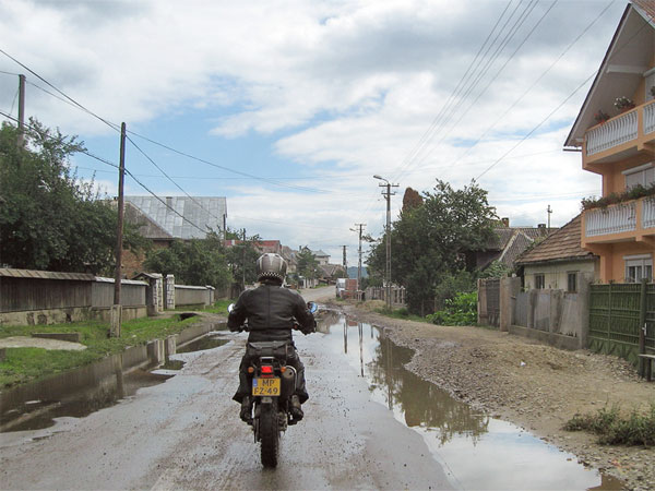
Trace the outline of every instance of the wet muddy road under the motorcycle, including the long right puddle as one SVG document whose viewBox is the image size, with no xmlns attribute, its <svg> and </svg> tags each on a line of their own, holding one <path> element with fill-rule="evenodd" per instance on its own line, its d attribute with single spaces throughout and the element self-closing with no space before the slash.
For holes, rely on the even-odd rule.
<svg viewBox="0 0 655 491">
<path fill-rule="evenodd" d="M 329 313 L 297 336 L 311 398 L 264 470 L 230 400 L 245 334 L 175 357 L 175 376 L 84 418 L 0 433 L 3 489 L 616 489 L 572 456 L 403 369 L 410 351 Z M 226 342 L 226 344 L 223 344 Z M 207 348 L 209 349 L 205 349 Z M 174 364 L 175 367 L 175 364 Z M 170 374 L 171 372 L 166 372 Z"/>
</svg>

